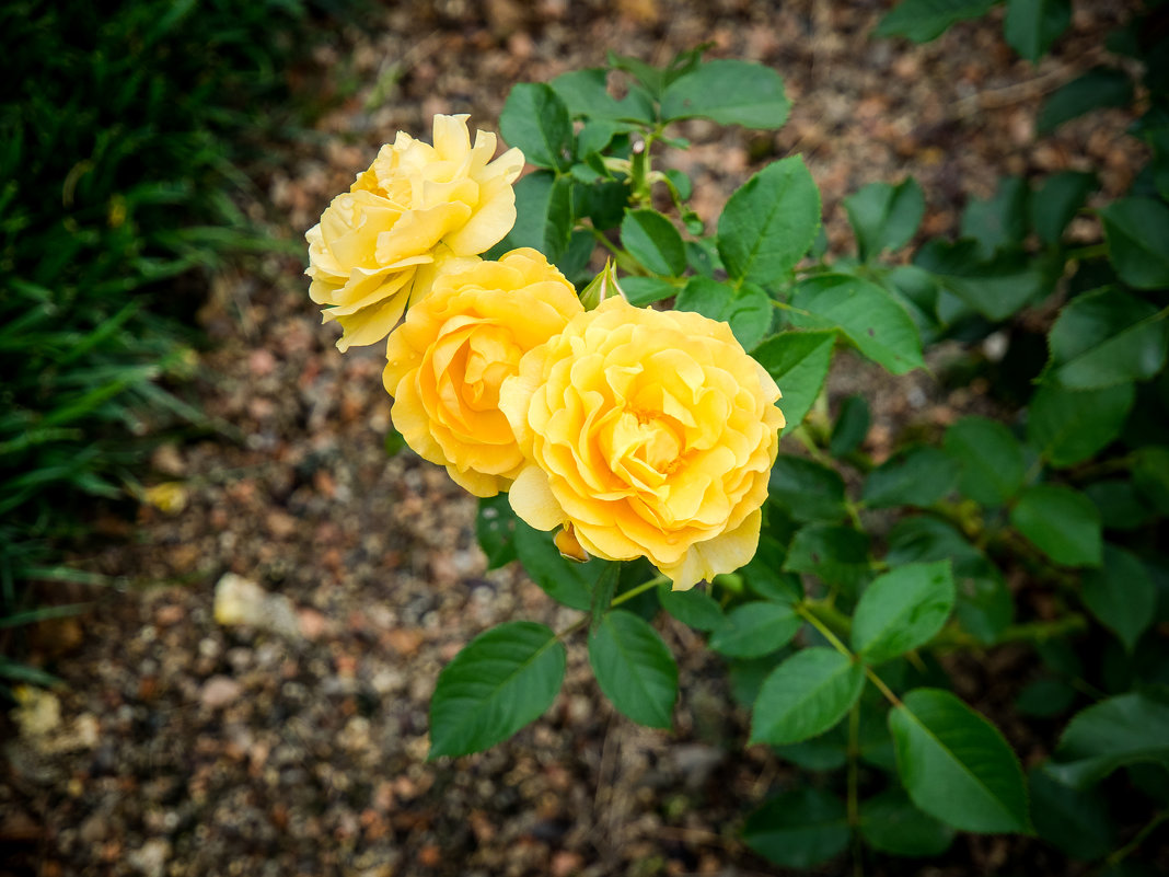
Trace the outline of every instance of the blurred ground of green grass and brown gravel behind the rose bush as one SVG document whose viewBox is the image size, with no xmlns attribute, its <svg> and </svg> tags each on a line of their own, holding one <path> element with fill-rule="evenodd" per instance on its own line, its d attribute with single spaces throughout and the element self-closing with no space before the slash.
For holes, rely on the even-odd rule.
<svg viewBox="0 0 1169 877">
<path fill-rule="evenodd" d="M 462 644 L 569 615 L 485 571 L 473 499 L 441 469 L 387 456 L 381 351 L 334 350 L 303 235 L 399 130 L 497 130 L 518 82 L 704 42 L 775 68 L 794 102 L 779 132 L 679 126 L 692 149 L 666 161 L 707 222 L 793 153 L 832 251 L 851 247 L 841 199 L 871 181 L 918 179 L 922 236 L 1002 175 L 1094 168 L 1127 191 L 1127 110 L 1035 119 L 1128 5 L 1077 4 L 1038 64 L 1001 9 L 924 46 L 876 39 L 891 5 L 4 4 L 0 875 L 782 873 L 736 831 L 793 768 L 738 748 L 734 681 L 680 626 L 672 736 L 615 717 L 577 650 L 535 725 L 426 764 Z M 985 392 L 845 362 L 830 395 L 870 399 L 878 460 Z M 994 714 L 1012 660 L 961 693 Z M 1029 731 L 1004 730 L 1026 762 Z M 921 873 L 1057 872 L 1029 843 L 962 837 Z"/>
</svg>

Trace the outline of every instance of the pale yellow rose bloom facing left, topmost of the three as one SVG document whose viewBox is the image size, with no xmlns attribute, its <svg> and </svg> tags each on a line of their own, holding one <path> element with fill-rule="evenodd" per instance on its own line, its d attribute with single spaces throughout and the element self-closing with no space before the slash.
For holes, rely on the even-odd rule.
<svg viewBox="0 0 1169 877">
<path fill-rule="evenodd" d="M 399 132 L 305 234 L 309 295 L 341 325 L 340 350 L 380 341 L 442 261 L 490 249 L 516 223 L 524 154 L 492 161 L 496 136 L 479 131 L 472 147 L 466 119 L 435 116 L 434 146 Z"/>
</svg>

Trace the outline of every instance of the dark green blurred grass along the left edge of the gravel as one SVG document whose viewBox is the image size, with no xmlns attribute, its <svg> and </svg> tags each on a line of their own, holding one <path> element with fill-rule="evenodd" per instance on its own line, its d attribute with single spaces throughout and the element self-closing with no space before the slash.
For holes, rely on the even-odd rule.
<svg viewBox="0 0 1169 877">
<path fill-rule="evenodd" d="M 321 33 L 300 0 L 0 9 L 0 616 L 83 504 L 209 428 L 189 324 L 210 271 L 286 249 L 233 196 L 307 111 L 285 74 Z"/>
</svg>

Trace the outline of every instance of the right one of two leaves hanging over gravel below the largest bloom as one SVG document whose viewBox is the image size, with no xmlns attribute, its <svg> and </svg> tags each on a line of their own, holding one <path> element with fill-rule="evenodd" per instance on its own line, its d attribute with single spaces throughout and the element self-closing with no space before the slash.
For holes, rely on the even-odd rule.
<svg viewBox="0 0 1169 877">
<path fill-rule="evenodd" d="M 608 613 L 589 633 L 588 660 L 620 712 L 642 725 L 670 727 L 678 665 L 646 622 L 621 609 Z"/>
</svg>

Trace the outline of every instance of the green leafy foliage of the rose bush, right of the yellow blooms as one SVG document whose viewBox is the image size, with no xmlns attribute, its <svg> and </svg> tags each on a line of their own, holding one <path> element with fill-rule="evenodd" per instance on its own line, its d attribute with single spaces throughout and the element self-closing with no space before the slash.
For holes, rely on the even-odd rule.
<svg viewBox="0 0 1169 877">
<path fill-rule="evenodd" d="M 928 40 L 992 5 L 905 0 L 879 33 Z M 1010 0 L 1004 37 L 1036 62 L 1068 20 L 1064 0 Z M 1092 172 L 1008 178 L 967 205 L 954 240 L 920 240 L 926 193 L 912 179 L 876 182 L 844 199 L 856 251 L 835 260 L 815 244 L 819 195 L 798 156 L 743 182 L 713 233 L 687 203 L 690 180 L 655 170 L 657 150 L 686 145 L 670 137 L 671 119 L 781 125 L 788 102 L 772 71 L 698 51 L 664 68 L 610 57 L 608 71 L 513 98 L 548 110 L 509 123 L 548 157 L 520 185 L 513 242 L 560 255 L 595 242 L 630 302 L 672 299 L 727 323 L 779 385 L 787 426 L 755 557 L 708 587 L 672 592 L 645 572 L 618 588 L 615 565 L 570 565 L 546 534 L 485 522 L 485 511 L 480 539 L 492 565 L 518 551 L 541 587 L 581 610 L 563 635 L 589 629 L 594 675 L 634 720 L 669 727 L 679 689 L 685 703 L 655 624 L 705 638 L 750 713 L 742 743 L 817 774 L 746 820 L 743 841 L 777 865 L 819 866 L 850 838 L 858 850 L 938 856 L 956 831 L 1032 835 L 1101 873 L 1143 858 L 1129 812 L 1163 808 L 1169 766 L 1169 76 L 1140 21 L 1122 46 L 1142 64 L 1088 71 L 1038 120 L 1050 130 L 1142 95 L 1133 133 L 1150 161 L 1132 193 L 1105 202 Z M 625 97 L 608 94 L 609 75 Z M 1095 241 L 1068 243 L 1077 216 L 1099 220 Z M 824 386 L 838 347 L 902 375 L 940 341 L 976 345 L 992 332 L 1008 344 L 1002 365 L 971 352 L 959 377 L 939 367 L 942 380 L 983 379 L 978 414 L 913 424 L 881 461 L 866 453 L 864 396 L 841 400 L 831 419 Z M 505 509 L 497 503 L 480 507 Z M 1029 759 L 1046 757 L 1030 783 L 945 669 L 1008 643 L 1030 647 L 1030 664 L 996 679 L 1005 698 L 983 703 L 996 703 L 996 720 L 1014 709 L 1003 724 L 1012 738 L 1029 723 Z M 964 663 L 938 661 L 955 651 Z M 1143 765 L 1157 769 L 1113 776 Z M 1106 803 L 1114 793 L 1130 799 L 1123 816 Z"/>
</svg>

